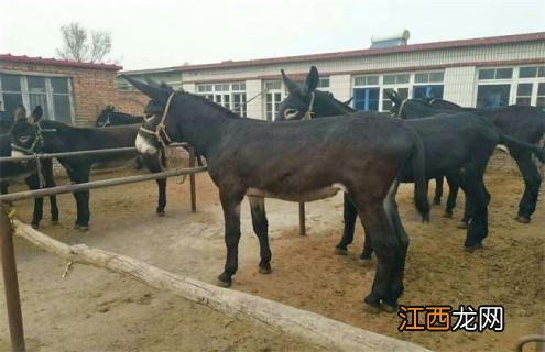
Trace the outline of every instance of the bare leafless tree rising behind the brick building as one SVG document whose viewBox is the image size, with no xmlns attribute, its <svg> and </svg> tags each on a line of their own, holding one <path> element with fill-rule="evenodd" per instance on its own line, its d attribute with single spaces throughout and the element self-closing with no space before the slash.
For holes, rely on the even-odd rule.
<svg viewBox="0 0 545 352">
<path fill-rule="evenodd" d="M 101 62 L 111 51 L 111 35 L 106 31 L 87 31 L 80 23 L 61 26 L 63 47 L 56 54 L 76 62 Z"/>
</svg>

